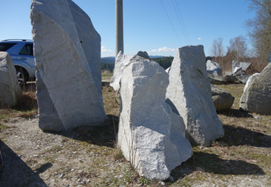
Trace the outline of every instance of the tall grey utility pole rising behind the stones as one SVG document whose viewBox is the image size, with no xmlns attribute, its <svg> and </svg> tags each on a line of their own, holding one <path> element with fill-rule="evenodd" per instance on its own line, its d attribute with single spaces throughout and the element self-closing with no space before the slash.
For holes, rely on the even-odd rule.
<svg viewBox="0 0 271 187">
<path fill-rule="evenodd" d="M 123 51 L 123 0 L 115 1 L 115 19 L 116 19 L 116 56 L 119 51 Z"/>
</svg>

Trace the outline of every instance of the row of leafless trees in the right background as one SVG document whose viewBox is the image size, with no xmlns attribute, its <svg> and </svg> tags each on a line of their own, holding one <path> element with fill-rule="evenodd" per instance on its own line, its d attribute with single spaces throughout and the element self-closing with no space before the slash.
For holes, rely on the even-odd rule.
<svg viewBox="0 0 271 187">
<path fill-rule="evenodd" d="M 252 63 L 251 73 L 261 72 L 268 64 L 271 53 L 271 1 L 248 1 L 249 10 L 255 11 L 255 17 L 245 23 L 252 49 L 247 48 L 247 39 L 243 35 L 230 39 L 226 49 L 222 37 L 213 40 L 209 58 L 218 62 L 224 71 L 231 71 L 232 60 Z"/>
</svg>

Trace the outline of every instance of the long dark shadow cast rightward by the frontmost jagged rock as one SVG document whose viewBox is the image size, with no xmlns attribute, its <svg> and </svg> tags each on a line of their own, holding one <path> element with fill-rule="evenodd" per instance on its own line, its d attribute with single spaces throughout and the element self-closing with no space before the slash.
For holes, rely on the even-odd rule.
<svg viewBox="0 0 271 187">
<path fill-rule="evenodd" d="M 193 157 L 177 166 L 171 176 L 174 181 L 184 178 L 192 172 L 202 171 L 219 175 L 265 175 L 265 172 L 254 163 L 246 161 L 220 159 L 216 154 L 194 152 Z"/>
</svg>

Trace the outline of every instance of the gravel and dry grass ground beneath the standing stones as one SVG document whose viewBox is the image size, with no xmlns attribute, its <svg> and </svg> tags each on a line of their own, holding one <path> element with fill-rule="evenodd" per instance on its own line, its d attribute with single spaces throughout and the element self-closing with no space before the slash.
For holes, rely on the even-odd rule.
<svg viewBox="0 0 271 187">
<path fill-rule="evenodd" d="M 63 133 L 40 130 L 35 89 L 28 88 L 17 107 L 0 110 L 0 186 L 271 186 L 271 116 L 239 110 L 243 84 L 216 86 L 235 97 L 218 114 L 225 136 L 193 147 L 167 181 L 139 177 L 116 148 L 119 105 L 111 87 L 103 86 L 109 125 Z"/>
</svg>

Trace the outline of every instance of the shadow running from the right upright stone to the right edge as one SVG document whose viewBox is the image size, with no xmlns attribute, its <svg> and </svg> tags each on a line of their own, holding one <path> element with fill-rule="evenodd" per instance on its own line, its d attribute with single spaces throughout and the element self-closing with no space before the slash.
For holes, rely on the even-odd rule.
<svg viewBox="0 0 271 187">
<path fill-rule="evenodd" d="M 271 136 L 253 132 L 243 127 L 223 125 L 225 135 L 217 139 L 222 146 L 252 145 L 254 147 L 271 148 Z"/>
</svg>

